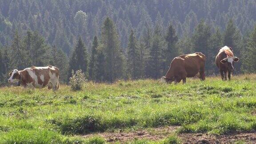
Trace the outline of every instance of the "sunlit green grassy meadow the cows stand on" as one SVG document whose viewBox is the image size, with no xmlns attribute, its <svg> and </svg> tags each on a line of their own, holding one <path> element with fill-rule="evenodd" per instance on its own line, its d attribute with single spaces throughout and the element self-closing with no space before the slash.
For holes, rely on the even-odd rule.
<svg viewBox="0 0 256 144">
<path fill-rule="evenodd" d="M 181 142 L 178 133 L 223 135 L 256 130 L 256 75 L 231 81 L 207 77 L 187 84 L 156 80 L 89 82 L 82 91 L 0 88 L 0 143 L 107 143 L 96 132 L 180 126 L 160 141 Z M 84 135 L 92 134 L 91 137 Z M 116 142 L 118 143 L 118 141 Z"/>
</svg>

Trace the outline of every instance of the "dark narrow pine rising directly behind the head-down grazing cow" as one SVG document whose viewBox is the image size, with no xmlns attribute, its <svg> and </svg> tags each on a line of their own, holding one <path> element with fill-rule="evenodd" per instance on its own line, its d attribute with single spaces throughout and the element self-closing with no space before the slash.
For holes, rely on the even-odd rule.
<svg viewBox="0 0 256 144">
<path fill-rule="evenodd" d="M 165 36 L 165 41 L 167 43 L 167 48 L 165 50 L 165 69 L 168 69 L 168 66 L 171 64 L 174 57 L 179 55 L 179 50 L 176 47 L 176 43 L 178 41 L 178 36 L 176 36 L 175 29 L 172 27 L 172 24 L 169 25 L 168 32 Z"/>
</svg>

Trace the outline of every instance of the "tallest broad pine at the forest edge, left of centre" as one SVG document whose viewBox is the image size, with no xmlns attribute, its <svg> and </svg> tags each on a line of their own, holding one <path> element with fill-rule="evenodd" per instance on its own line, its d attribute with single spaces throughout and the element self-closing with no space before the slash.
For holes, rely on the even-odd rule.
<svg viewBox="0 0 256 144">
<path fill-rule="evenodd" d="M 124 56 L 113 21 L 106 18 L 101 33 L 105 54 L 105 78 L 109 82 L 124 76 Z"/>
</svg>

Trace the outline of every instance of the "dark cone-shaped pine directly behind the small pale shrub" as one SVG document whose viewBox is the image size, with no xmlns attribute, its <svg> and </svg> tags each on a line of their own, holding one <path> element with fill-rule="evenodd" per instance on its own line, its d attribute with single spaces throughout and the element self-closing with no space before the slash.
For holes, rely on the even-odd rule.
<svg viewBox="0 0 256 144">
<path fill-rule="evenodd" d="M 78 38 L 69 62 L 69 77 L 71 76 L 72 70 L 76 72 L 80 69 L 84 72 L 85 76 L 88 76 L 88 54 L 81 37 Z"/>
</svg>

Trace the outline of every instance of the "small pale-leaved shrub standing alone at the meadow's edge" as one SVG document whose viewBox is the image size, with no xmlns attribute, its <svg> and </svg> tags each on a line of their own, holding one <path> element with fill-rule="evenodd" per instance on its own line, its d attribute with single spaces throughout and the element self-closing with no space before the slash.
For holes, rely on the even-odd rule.
<svg viewBox="0 0 256 144">
<path fill-rule="evenodd" d="M 82 70 L 74 72 L 72 70 L 72 77 L 69 78 L 69 84 L 71 85 L 71 89 L 73 91 L 80 91 L 83 89 L 83 85 L 86 82 L 86 78 Z"/>
</svg>

